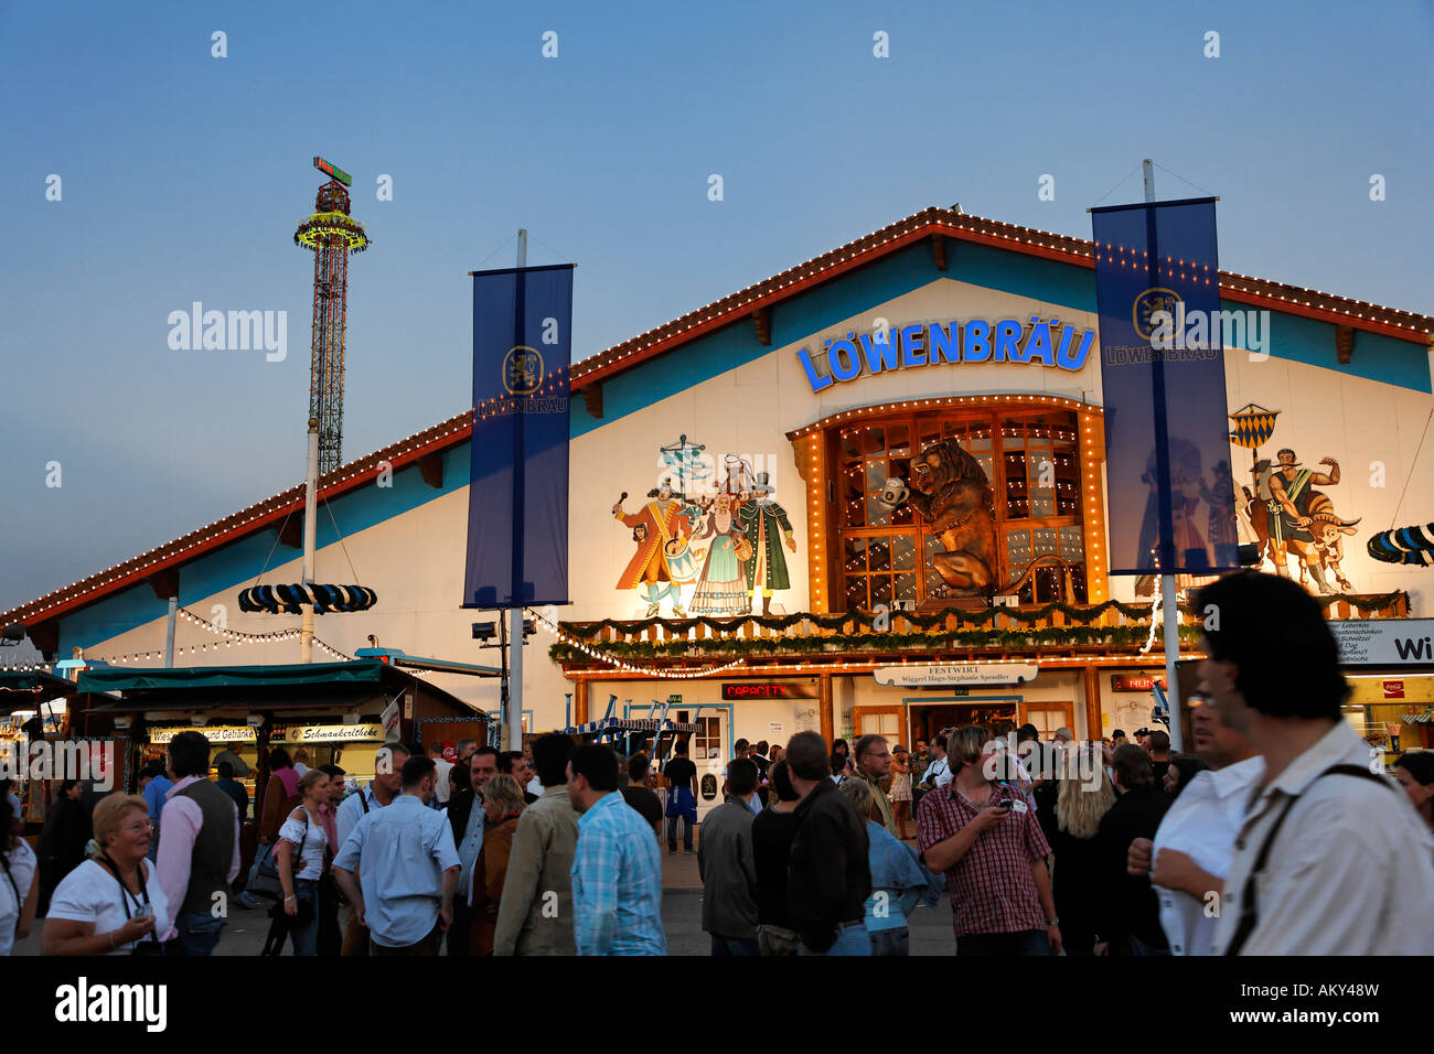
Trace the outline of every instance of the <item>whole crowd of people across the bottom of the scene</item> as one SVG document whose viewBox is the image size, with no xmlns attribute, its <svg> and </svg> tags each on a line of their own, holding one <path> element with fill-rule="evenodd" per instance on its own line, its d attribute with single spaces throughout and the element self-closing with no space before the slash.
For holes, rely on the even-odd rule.
<svg viewBox="0 0 1434 1054">
<path fill-rule="evenodd" d="M 60 784 L 39 852 L 0 796 L 0 954 L 43 916 L 46 955 L 209 955 L 242 880 L 272 955 L 665 955 L 664 843 L 697 856 L 714 956 L 906 955 L 942 898 L 956 955 L 1427 954 L 1434 753 L 1374 763 L 1298 587 L 1230 575 L 1197 608 L 1192 754 L 1160 728 L 739 740 L 700 825 L 683 741 L 660 777 L 561 733 L 389 743 L 361 787 L 277 749 L 241 879 L 248 796 L 181 731 L 138 794 Z"/>
</svg>

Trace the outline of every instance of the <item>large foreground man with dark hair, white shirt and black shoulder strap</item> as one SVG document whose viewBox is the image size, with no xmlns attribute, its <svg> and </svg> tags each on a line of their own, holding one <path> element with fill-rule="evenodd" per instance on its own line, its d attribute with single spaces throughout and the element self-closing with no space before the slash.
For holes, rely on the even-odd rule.
<svg viewBox="0 0 1434 1054">
<path fill-rule="evenodd" d="M 1341 706 L 1349 685 L 1318 601 L 1239 572 L 1195 602 L 1199 691 L 1265 759 L 1215 929 L 1217 955 L 1427 955 L 1434 840 L 1378 747 Z"/>
</svg>

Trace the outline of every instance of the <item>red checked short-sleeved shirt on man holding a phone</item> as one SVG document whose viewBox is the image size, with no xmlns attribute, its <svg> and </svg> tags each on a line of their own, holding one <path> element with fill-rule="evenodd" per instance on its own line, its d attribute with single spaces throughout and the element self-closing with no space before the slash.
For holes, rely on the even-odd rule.
<svg viewBox="0 0 1434 1054">
<path fill-rule="evenodd" d="M 916 843 L 926 852 L 971 823 L 987 806 L 998 802 L 1025 804 L 1020 790 L 1004 783 L 991 784 L 989 800 L 968 802 L 955 784 L 934 790 L 921 799 Z M 1031 865 L 1051 852 L 1035 822 L 1035 810 L 1011 810 L 994 827 L 977 835 L 965 855 L 946 870 L 951 891 L 952 925 L 956 938 L 967 934 L 1021 934 L 1045 929 L 1045 912 L 1035 891 Z"/>
</svg>

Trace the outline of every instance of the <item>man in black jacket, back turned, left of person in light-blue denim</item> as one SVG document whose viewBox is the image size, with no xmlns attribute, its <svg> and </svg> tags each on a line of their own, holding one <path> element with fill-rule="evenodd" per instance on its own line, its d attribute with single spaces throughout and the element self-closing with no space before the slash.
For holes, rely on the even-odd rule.
<svg viewBox="0 0 1434 1054">
<path fill-rule="evenodd" d="M 837 793 L 826 740 L 799 731 L 787 741 L 792 786 L 802 796 L 787 869 L 787 915 L 804 955 L 870 955 L 866 898 L 872 892 L 866 817 Z"/>
</svg>

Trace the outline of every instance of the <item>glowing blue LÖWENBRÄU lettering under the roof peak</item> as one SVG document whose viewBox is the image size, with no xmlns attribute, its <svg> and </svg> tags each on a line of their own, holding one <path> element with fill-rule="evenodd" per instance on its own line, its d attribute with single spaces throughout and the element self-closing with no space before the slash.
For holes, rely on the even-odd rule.
<svg viewBox="0 0 1434 1054">
<path fill-rule="evenodd" d="M 962 363 L 1024 363 L 1076 373 L 1086 366 L 1096 334 L 1078 333 L 1058 318 L 1032 317 L 987 321 L 971 318 L 949 323 L 911 323 L 872 333 L 847 333 L 840 340 L 822 341 L 822 354 L 797 351 L 812 391 L 837 381 L 856 380 L 863 373 L 906 370 L 921 366 Z M 825 361 L 823 361 L 825 360 Z"/>
</svg>

